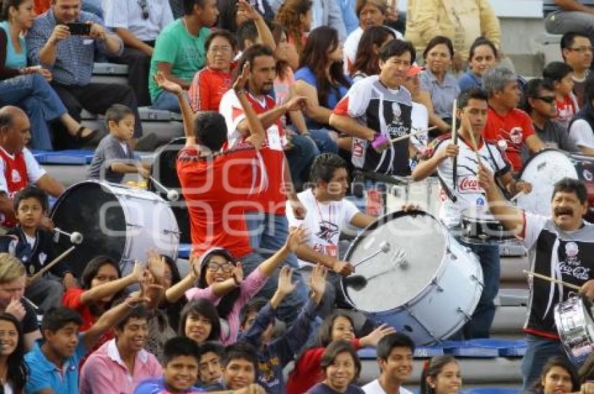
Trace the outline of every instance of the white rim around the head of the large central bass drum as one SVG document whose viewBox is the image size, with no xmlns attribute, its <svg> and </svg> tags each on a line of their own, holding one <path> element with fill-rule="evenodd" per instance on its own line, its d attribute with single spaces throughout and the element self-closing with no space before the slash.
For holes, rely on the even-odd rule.
<svg viewBox="0 0 594 394">
<path fill-rule="evenodd" d="M 445 248 L 449 249 L 450 242 L 452 240 L 454 240 L 454 238 L 449 238 L 449 233 L 447 232 L 447 228 L 445 228 L 444 224 L 442 224 L 442 222 L 440 220 L 437 220 L 437 218 L 435 216 L 433 216 L 433 214 L 430 214 L 429 212 L 426 212 L 423 210 L 410 210 L 407 212 L 405 212 L 403 210 L 399 210 L 399 211 L 395 211 L 395 212 L 389 212 L 387 214 L 382 215 L 381 217 L 378 217 L 375 221 L 373 221 L 372 224 L 365 227 L 363 229 L 363 231 L 361 231 L 361 233 L 358 233 L 358 235 L 352 241 L 351 246 L 349 246 L 347 253 L 345 254 L 345 261 L 349 261 L 348 258 L 350 258 L 352 250 L 354 249 L 354 247 L 356 247 L 356 245 L 358 245 L 360 242 L 362 242 L 363 239 L 365 239 L 365 235 L 368 235 L 368 231 L 375 230 L 375 228 L 377 228 L 379 226 L 379 224 L 385 224 L 388 221 L 391 221 L 393 219 L 398 219 L 400 217 L 412 216 L 412 215 L 417 215 L 417 214 L 426 215 L 426 216 L 430 217 L 440 226 L 440 228 L 442 228 L 442 231 L 443 231 L 442 237 L 444 238 Z M 456 240 L 454 240 L 454 242 L 456 242 Z M 437 270 L 435 270 L 433 276 L 431 277 L 431 279 L 428 280 L 427 284 L 430 284 L 431 282 L 433 282 L 433 280 L 441 277 L 441 275 L 443 275 L 443 273 L 444 273 L 444 256 L 442 256 L 442 260 L 440 261 L 440 264 L 437 266 Z M 345 278 L 342 278 L 340 280 L 340 289 L 342 289 L 342 294 L 345 296 L 345 300 L 349 303 L 349 305 L 351 305 L 353 307 L 354 310 L 363 311 L 363 309 L 358 309 L 358 307 L 354 304 L 353 300 L 350 298 L 350 296 L 347 292 L 347 289 L 345 288 Z M 386 312 L 399 310 L 403 307 L 403 305 L 407 305 L 410 307 L 410 306 L 415 305 L 416 302 L 419 300 L 419 298 L 423 298 L 423 296 L 425 296 L 425 294 L 430 291 L 431 291 L 430 286 L 425 286 L 425 287 L 423 287 L 423 289 L 421 289 L 421 291 L 419 291 L 419 293 L 416 293 L 414 296 L 412 296 L 410 298 L 410 301 L 405 302 L 405 304 L 398 305 L 396 307 L 391 307 L 389 309 L 383 309 L 381 311 L 363 311 L 363 312 L 370 313 L 370 314 L 382 314 L 382 313 L 386 313 Z"/>
</svg>

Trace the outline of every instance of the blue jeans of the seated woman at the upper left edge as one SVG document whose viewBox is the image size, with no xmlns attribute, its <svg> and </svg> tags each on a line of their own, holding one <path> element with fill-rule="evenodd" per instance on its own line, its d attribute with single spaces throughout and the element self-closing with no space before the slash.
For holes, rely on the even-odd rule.
<svg viewBox="0 0 594 394">
<path fill-rule="evenodd" d="M 45 78 L 29 74 L 0 81 L 0 107 L 4 105 L 16 105 L 27 112 L 33 149 L 53 149 L 48 121 L 66 114 L 66 107 Z"/>
</svg>

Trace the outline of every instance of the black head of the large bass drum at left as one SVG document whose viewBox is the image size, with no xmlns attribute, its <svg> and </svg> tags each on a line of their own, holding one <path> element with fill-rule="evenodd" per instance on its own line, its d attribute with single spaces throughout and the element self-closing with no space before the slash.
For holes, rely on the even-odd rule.
<svg viewBox="0 0 594 394">
<path fill-rule="evenodd" d="M 81 182 L 64 191 L 56 201 L 50 217 L 56 227 L 83 236 L 65 261 L 70 263 L 74 275 L 80 279 L 89 260 L 108 256 L 119 263 L 126 245 L 126 217 L 117 197 L 99 182 Z M 114 235 L 107 235 L 106 230 Z M 60 235 L 57 253 L 61 254 L 72 244 Z"/>
</svg>

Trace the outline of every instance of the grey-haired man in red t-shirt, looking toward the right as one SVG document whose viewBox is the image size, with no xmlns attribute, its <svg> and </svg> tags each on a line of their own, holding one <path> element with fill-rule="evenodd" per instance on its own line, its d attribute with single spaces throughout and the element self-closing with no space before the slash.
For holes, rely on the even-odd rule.
<svg viewBox="0 0 594 394">
<path fill-rule="evenodd" d="M 516 108 L 521 98 L 518 78 L 507 68 L 494 68 L 484 75 L 483 87 L 489 105 L 484 138 L 505 146 L 512 170 L 518 173 L 523 165 L 521 149 L 524 145 L 530 154 L 544 149 L 528 114 Z"/>
</svg>

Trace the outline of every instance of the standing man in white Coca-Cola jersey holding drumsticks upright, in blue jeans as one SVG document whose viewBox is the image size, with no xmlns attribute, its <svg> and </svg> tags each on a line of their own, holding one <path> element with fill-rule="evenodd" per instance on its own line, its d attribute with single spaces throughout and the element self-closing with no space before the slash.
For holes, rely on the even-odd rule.
<svg viewBox="0 0 594 394">
<path fill-rule="evenodd" d="M 487 143 L 481 136 L 487 121 L 487 96 L 481 89 L 470 89 L 458 98 L 460 119 L 458 135 L 460 143 L 454 144 L 451 136 L 441 136 L 433 140 L 426 152 L 426 160 L 421 161 L 412 173 L 412 180 L 423 180 L 437 170 L 442 180 L 442 200 L 440 219 L 454 232 L 460 231 L 461 212 L 465 208 L 483 206 L 484 191 L 479 187 L 477 173 L 478 157 L 485 166 L 491 168 L 498 180 L 511 194 L 530 191 L 531 185 L 512 178 L 509 163 L 501 156 L 499 149 Z M 471 136 L 472 133 L 472 136 Z M 474 141 L 478 152 L 473 149 Z M 454 160 L 456 158 L 456 180 L 454 180 Z M 479 305 L 472 314 L 472 319 L 464 326 L 463 335 L 467 339 L 488 337 L 495 304 L 493 300 L 499 291 L 499 247 L 488 243 L 477 245 L 457 240 L 470 247 L 481 262 L 484 276 L 484 289 Z"/>
</svg>

